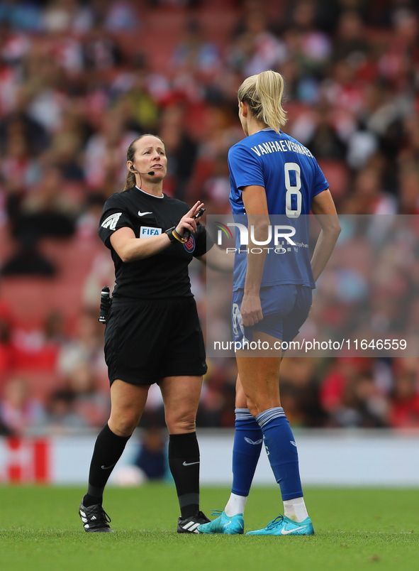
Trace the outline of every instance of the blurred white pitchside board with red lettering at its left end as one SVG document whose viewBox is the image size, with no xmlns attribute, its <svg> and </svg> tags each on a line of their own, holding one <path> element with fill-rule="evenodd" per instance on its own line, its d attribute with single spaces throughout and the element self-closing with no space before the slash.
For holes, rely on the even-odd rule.
<svg viewBox="0 0 419 571">
<path fill-rule="evenodd" d="M 201 484 L 231 484 L 233 431 L 199 430 Z M 306 486 L 419 486 L 419 433 L 389 430 L 295 431 Z M 96 437 L 0 438 L 0 484 L 84 485 Z M 138 453 L 133 437 L 114 473 Z M 255 484 L 274 484 L 262 450 Z"/>
</svg>

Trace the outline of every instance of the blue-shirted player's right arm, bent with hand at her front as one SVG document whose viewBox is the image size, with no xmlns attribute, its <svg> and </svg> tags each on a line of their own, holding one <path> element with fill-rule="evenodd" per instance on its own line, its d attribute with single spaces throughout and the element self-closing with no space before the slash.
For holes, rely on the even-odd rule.
<svg viewBox="0 0 419 571">
<path fill-rule="evenodd" d="M 311 258 L 314 281 L 317 281 L 318 276 L 320 276 L 326 263 L 328 263 L 341 230 L 335 203 L 329 189 L 323 190 L 323 192 L 320 192 L 313 198 L 311 212 L 313 212 L 321 227 L 313 257 Z"/>
</svg>

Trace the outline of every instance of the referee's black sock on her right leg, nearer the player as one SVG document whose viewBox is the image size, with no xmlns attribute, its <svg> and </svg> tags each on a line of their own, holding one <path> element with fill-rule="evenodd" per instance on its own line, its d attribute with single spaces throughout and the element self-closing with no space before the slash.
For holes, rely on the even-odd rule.
<svg viewBox="0 0 419 571">
<path fill-rule="evenodd" d="M 169 468 L 176 485 L 181 518 L 199 511 L 199 445 L 196 433 L 169 436 Z"/>
</svg>

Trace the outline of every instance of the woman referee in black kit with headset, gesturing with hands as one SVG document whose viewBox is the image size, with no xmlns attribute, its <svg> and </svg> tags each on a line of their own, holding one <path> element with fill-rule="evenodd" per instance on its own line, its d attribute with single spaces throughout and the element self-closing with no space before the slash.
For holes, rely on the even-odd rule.
<svg viewBox="0 0 419 571">
<path fill-rule="evenodd" d="M 79 515 L 85 531 L 112 531 L 102 507 L 104 487 L 140 422 L 150 385 L 158 383 L 181 511 L 177 531 L 196 533 L 209 521 L 199 511 L 195 428 L 207 366 L 188 264 L 193 257 L 207 263 L 208 256 L 208 265 L 231 271 L 233 259 L 194 219 L 201 202 L 189 209 L 162 193 L 167 172 L 162 139 L 136 138 L 127 151 L 127 168 L 124 191 L 106 201 L 99 225 L 116 274 L 105 333 L 111 416 L 96 440 Z"/>
</svg>

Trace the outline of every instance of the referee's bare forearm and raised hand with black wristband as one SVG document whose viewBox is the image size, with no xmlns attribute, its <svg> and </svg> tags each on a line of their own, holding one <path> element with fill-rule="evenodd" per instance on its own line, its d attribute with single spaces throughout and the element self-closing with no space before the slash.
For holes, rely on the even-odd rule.
<svg viewBox="0 0 419 571">
<path fill-rule="evenodd" d="M 202 203 L 198 201 L 189 212 L 181 217 L 176 227 L 178 234 L 183 236 L 185 229 L 192 233 L 196 232 L 196 221 L 193 217 L 201 207 Z M 119 228 L 113 232 L 110 241 L 116 254 L 125 263 L 150 258 L 172 243 L 164 232 L 158 236 L 150 236 L 150 238 L 136 238 L 133 229 L 128 227 Z"/>
</svg>

